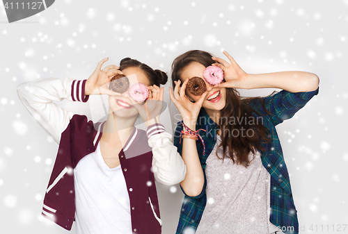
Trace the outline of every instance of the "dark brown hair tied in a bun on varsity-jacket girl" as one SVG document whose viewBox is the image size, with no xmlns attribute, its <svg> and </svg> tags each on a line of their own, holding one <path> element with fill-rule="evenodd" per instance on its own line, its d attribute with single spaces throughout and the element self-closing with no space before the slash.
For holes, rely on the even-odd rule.
<svg viewBox="0 0 348 234">
<path fill-rule="evenodd" d="M 146 76 L 150 79 L 151 85 L 165 85 L 168 81 L 168 76 L 166 72 L 162 72 L 159 69 L 152 69 L 148 65 L 145 65 L 143 62 L 139 62 L 136 59 L 132 58 L 123 58 L 120 61 L 120 70 L 126 69 L 127 67 L 138 67 L 143 72 L 145 72 Z"/>
</svg>

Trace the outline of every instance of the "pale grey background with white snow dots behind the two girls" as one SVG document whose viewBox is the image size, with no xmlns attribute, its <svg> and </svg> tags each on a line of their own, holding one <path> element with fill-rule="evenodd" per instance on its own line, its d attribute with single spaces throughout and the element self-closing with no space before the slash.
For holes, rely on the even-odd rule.
<svg viewBox="0 0 348 234">
<path fill-rule="evenodd" d="M 61 0 L 12 24 L 1 3 L 0 233 L 68 233 L 40 215 L 58 144 L 19 101 L 19 83 L 65 75 L 85 79 L 105 57 L 105 65 L 129 56 L 169 73 L 173 59 L 189 49 L 221 58 L 226 49 L 251 74 L 319 76 L 319 94 L 276 128 L 300 233 L 312 233 L 312 224 L 313 233 L 348 233 L 344 226 L 337 231 L 338 224 L 348 224 L 347 37 L 348 0 Z M 172 131 L 180 118 L 168 98 L 169 84 L 170 112 L 161 120 Z M 273 90 L 240 92 L 267 96 Z M 88 103 L 58 105 L 93 121 L 103 113 L 97 96 Z M 183 194 L 178 185 L 157 183 L 157 190 L 163 233 L 175 233 Z M 324 225 L 324 231 L 315 231 L 315 225 Z"/>
</svg>

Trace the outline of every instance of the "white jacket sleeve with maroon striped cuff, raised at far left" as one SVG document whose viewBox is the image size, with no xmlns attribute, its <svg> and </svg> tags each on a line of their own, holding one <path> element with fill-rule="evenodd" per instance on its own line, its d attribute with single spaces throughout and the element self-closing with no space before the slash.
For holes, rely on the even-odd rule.
<svg viewBox="0 0 348 234">
<path fill-rule="evenodd" d="M 40 78 L 17 86 L 19 99 L 42 128 L 59 144 L 61 133 L 67 128 L 74 115 L 59 107 L 53 101 L 86 102 L 84 95 L 87 80 L 74 80 L 68 76 L 62 78 Z"/>
</svg>

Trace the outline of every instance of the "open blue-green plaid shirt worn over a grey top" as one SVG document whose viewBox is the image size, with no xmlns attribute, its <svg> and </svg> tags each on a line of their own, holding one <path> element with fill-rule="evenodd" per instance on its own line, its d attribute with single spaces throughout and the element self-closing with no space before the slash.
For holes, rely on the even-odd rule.
<svg viewBox="0 0 348 234">
<path fill-rule="evenodd" d="M 303 108 L 303 106 L 305 106 L 306 103 L 318 93 L 319 87 L 317 90 L 311 92 L 294 93 L 288 92 L 287 90 L 281 90 L 272 96 L 262 97 L 265 108 L 271 112 L 272 115 L 269 115 L 264 108 L 262 108 L 260 99 L 253 100 L 249 103 L 250 106 L 260 112 L 263 117 L 263 124 L 268 128 L 269 133 L 271 134 L 270 143 L 261 142 L 262 147 L 266 150 L 260 151 L 262 165 L 264 165 L 271 175 L 271 213 L 269 221 L 276 226 L 280 226 L 283 233 L 287 234 L 299 233 L 299 222 L 297 220 L 297 210 L 294 206 L 294 200 L 292 199 L 290 178 L 275 126 L 282 123 L 285 119 L 290 119 L 294 116 L 298 110 Z M 255 112 L 254 115 L 257 117 Z M 177 147 L 177 151 L 180 155 L 182 153 L 182 143 L 180 144 L 180 133 L 182 131 L 181 123 L 182 121 L 177 123 L 177 128 L 175 129 L 174 134 L 174 145 Z M 185 197 L 182 203 L 176 234 L 185 233 L 184 231 L 186 228 L 191 228 L 196 232 L 207 201 L 205 194 L 205 187 L 207 185 L 205 177 L 205 162 L 216 143 L 216 130 L 218 130 L 218 126 L 209 118 L 209 115 L 207 115 L 204 108 L 201 108 L 197 119 L 196 130 L 200 128 L 206 130 L 206 132 L 199 132 L 205 142 L 205 156 L 203 156 L 202 143 L 200 140 L 196 141 L 198 156 L 205 178 L 203 190 L 198 196 L 189 197 L 180 186 Z"/>
</svg>

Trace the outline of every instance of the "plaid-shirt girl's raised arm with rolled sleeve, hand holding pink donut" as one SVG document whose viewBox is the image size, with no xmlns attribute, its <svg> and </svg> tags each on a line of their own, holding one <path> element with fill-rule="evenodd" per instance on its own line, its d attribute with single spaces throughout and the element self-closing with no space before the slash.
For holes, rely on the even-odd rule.
<svg viewBox="0 0 348 234">
<path fill-rule="evenodd" d="M 246 74 L 237 62 L 226 51 L 223 52 L 230 63 L 221 58 L 213 58 L 224 71 L 226 82 L 215 87 L 235 87 L 243 89 L 274 87 L 282 89 L 280 92 L 263 97 L 264 107 L 271 112 L 271 121 L 274 126 L 294 114 L 315 95 L 319 93 L 319 78 L 310 72 L 273 72 L 266 74 Z M 261 105 L 255 105 L 260 108 Z M 268 115 L 268 114 L 267 114 Z"/>
</svg>

